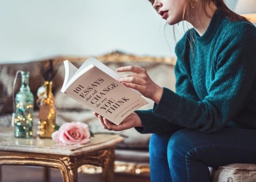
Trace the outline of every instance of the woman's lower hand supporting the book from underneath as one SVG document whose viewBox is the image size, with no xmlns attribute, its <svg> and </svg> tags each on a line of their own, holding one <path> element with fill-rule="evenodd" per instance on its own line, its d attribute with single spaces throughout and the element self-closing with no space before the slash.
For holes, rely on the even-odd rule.
<svg viewBox="0 0 256 182">
<path fill-rule="evenodd" d="M 127 116 L 118 126 L 96 112 L 93 112 L 93 114 L 99 119 L 102 127 L 108 130 L 121 131 L 133 127 L 142 127 L 140 117 L 135 112 Z"/>
</svg>

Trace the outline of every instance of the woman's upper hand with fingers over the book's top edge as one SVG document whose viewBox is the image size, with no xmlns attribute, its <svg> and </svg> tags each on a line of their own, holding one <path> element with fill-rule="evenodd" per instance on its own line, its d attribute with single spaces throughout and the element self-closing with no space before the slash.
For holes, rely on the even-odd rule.
<svg viewBox="0 0 256 182">
<path fill-rule="evenodd" d="M 151 80 L 145 69 L 136 66 L 124 66 L 117 68 L 116 71 L 131 71 L 135 73 L 120 77 L 118 81 L 129 88 L 138 90 L 143 96 L 150 98 L 157 104 L 159 103 L 163 88 Z"/>
</svg>

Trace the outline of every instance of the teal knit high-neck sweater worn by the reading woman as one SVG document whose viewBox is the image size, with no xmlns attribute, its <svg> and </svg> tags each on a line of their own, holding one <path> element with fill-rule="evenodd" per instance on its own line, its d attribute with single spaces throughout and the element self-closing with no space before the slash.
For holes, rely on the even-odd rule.
<svg viewBox="0 0 256 182">
<path fill-rule="evenodd" d="M 175 53 L 176 93 L 163 88 L 158 105 L 135 111 L 143 126 L 135 127 L 138 132 L 256 129 L 256 27 L 252 23 L 231 22 L 218 9 L 206 32 L 200 36 L 194 28 L 188 30 Z"/>
</svg>

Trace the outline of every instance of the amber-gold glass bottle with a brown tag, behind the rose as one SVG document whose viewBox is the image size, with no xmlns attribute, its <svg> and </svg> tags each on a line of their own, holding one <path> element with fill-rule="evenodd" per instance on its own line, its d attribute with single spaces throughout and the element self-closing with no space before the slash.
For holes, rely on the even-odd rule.
<svg viewBox="0 0 256 182">
<path fill-rule="evenodd" d="M 40 138 L 51 138 L 55 131 L 56 108 L 54 106 L 54 97 L 52 94 L 52 81 L 45 81 L 46 97 L 40 101 L 41 107 L 39 111 L 38 131 Z"/>
</svg>

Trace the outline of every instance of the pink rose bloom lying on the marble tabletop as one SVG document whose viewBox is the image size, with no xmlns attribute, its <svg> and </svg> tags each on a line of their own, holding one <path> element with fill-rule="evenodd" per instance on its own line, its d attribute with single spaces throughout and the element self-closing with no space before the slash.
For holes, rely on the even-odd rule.
<svg viewBox="0 0 256 182">
<path fill-rule="evenodd" d="M 85 144 L 90 141 L 90 132 L 85 123 L 65 122 L 58 131 L 52 133 L 52 139 L 65 145 Z"/>
</svg>

